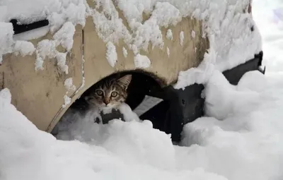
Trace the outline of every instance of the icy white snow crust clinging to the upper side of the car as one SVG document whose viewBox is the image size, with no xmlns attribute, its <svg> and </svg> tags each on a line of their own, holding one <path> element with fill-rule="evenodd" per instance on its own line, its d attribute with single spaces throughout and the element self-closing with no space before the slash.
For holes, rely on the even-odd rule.
<svg viewBox="0 0 283 180">
<path fill-rule="evenodd" d="M 258 29 L 251 15 L 243 13 L 248 8 L 248 1 L 117 0 L 116 5 L 124 13 L 129 24 L 128 30 L 118 16 L 115 4 L 110 0 L 94 0 L 95 8 L 88 6 L 85 0 L 4 0 L 0 2 L 0 56 L 10 52 L 19 52 L 22 56 L 35 52 L 36 70 L 43 69 L 44 59 L 49 57 L 57 59 L 62 71 L 68 73 L 66 55 L 57 52 L 56 47 L 61 44 L 69 52 L 73 45 L 74 26 L 84 25 L 87 16 L 93 17 L 96 32 L 108 45 L 108 49 L 112 47 L 110 43 L 115 44 L 117 40 L 122 39 L 137 56 L 140 49 L 147 50 L 149 43 L 153 47 L 166 48 L 163 46 L 161 27 L 176 25 L 183 17 L 190 16 L 203 20 L 204 36 L 209 37 L 210 49 L 204 57 L 204 63 L 214 64 L 217 69 L 224 71 L 252 59 L 254 54 L 261 50 Z M 143 13 L 151 13 L 150 18 L 144 22 Z M 42 40 L 36 47 L 30 42 L 18 43 L 17 40 L 25 38 L 17 37 L 17 40 L 13 40 L 12 26 L 8 23 L 11 18 L 17 18 L 21 23 L 32 23 L 47 18 L 50 20 L 48 28 L 51 32 L 56 32 L 54 40 Z M 255 29 L 253 32 L 250 31 L 252 26 Z M 181 44 L 191 32 L 186 33 L 189 34 L 180 32 Z M 168 30 L 166 37 L 171 39 L 171 35 L 171 30 Z M 115 66 L 115 53 L 113 50 L 111 52 L 111 55 L 108 54 L 108 61 L 111 66 Z M 140 64 L 144 63 L 135 64 L 140 67 Z M 200 72 L 204 73 L 205 77 L 210 74 L 202 67 L 182 72 L 175 88 L 195 83 L 192 81 L 204 81 L 205 78 Z M 184 74 L 197 76 L 197 79 L 187 81 L 183 78 Z"/>
</svg>

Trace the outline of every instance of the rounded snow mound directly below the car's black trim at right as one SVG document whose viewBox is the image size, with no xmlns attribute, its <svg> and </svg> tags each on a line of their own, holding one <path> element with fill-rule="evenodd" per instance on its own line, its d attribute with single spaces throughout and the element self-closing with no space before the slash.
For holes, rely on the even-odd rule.
<svg viewBox="0 0 283 180">
<path fill-rule="evenodd" d="M 249 76 L 256 78 L 249 78 Z M 256 92 L 257 86 L 254 86 L 252 90 L 249 87 L 250 82 L 253 84 L 255 84 L 254 82 L 264 82 L 265 78 L 262 76 L 257 71 L 248 72 L 235 87 L 226 80 L 222 73 L 214 71 L 204 89 L 206 100 L 204 109 L 207 115 L 214 116 L 216 119 L 226 119 L 233 114 L 248 113 L 256 109 L 263 97 Z M 258 85 L 258 87 L 260 86 Z"/>
</svg>

